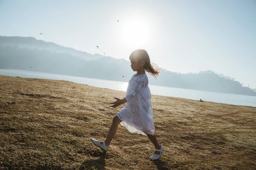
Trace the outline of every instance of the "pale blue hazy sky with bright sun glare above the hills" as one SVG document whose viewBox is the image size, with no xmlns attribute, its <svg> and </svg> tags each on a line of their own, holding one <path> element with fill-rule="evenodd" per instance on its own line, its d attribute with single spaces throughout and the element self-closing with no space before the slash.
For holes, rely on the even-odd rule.
<svg viewBox="0 0 256 170">
<path fill-rule="evenodd" d="M 256 0 L 0 0 L 0 35 L 126 60 L 142 48 L 160 68 L 256 88 Z"/>
</svg>

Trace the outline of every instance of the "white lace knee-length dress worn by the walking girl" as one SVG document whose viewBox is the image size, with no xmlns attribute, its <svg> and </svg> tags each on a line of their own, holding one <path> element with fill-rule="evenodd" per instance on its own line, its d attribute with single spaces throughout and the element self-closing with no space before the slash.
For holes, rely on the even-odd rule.
<svg viewBox="0 0 256 170">
<path fill-rule="evenodd" d="M 131 133 L 154 135 L 151 93 L 146 74 L 131 77 L 125 98 L 127 100 L 125 107 L 117 113 L 122 120 L 120 125 Z"/>
</svg>

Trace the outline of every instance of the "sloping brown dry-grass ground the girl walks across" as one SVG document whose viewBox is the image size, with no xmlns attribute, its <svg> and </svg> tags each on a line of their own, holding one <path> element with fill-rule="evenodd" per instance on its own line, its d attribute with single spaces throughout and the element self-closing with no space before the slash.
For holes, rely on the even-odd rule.
<svg viewBox="0 0 256 170">
<path fill-rule="evenodd" d="M 0 76 L 0 169 L 256 170 L 256 108 L 152 95 L 165 153 L 119 125 L 104 140 L 125 92 L 68 81 Z M 7 103 L 9 102 L 9 103 Z M 15 102 L 15 104 L 12 104 Z"/>
</svg>

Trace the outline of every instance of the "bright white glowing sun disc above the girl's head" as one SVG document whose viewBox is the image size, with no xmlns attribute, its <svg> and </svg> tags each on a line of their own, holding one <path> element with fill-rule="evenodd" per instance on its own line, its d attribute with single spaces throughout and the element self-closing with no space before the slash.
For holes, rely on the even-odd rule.
<svg viewBox="0 0 256 170">
<path fill-rule="evenodd" d="M 140 48 L 147 45 L 150 37 L 150 28 L 145 20 L 139 18 L 125 20 L 122 24 L 121 38 L 125 46 Z"/>
</svg>

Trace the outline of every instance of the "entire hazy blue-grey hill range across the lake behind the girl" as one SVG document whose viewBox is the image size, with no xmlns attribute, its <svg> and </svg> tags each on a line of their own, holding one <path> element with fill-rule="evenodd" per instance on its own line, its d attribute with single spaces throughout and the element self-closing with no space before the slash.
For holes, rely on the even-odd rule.
<svg viewBox="0 0 256 170">
<path fill-rule="evenodd" d="M 14 42 L 15 38 L 17 38 L 17 41 L 20 40 L 20 37 L 7 38 L 6 40 L 12 39 L 12 42 Z M 39 41 L 37 43 L 43 42 L 45 46 L 52 46 L 54 43 L 36 40 L 31 37 L 27 39 L 23 37 L 23 39 L 20 44 L 9 45 L 4 42 L 4 45 L 0 45 L 0 68 L 41 71 L 125 82 L 128 82 L 134 74 L 131 70 L 130 62 L 125 59 L 101 57 L 99 59 L 86 60 L 74 55 L 74 53 L 59 53 L 48 49 L 30 48 L 31 46 L 36 46 L 32 43 L 34 41 Z M 29 40 L 32 40 L 32 42 L 29 42 Z M 29 47 L 25 47 L 26 41 L 31 44 Z M 59 46 L 59 48 L 65 49 L 66 47 Z M 84 54 L 88 53 L 84 52 Z M 93 56 L 88 54 L 87 57 L 93 58 Z M 256 92 L 248 87 L 243 87 L 240 82 L 224 75 L 215 74 L 213 71 L 201 71 L 198 74 L 180 74 L 162 69 L 157 80 L 152 76 L 148 76 L 148 78 L 151 85 L 256 96 Z"/>
</svg>

